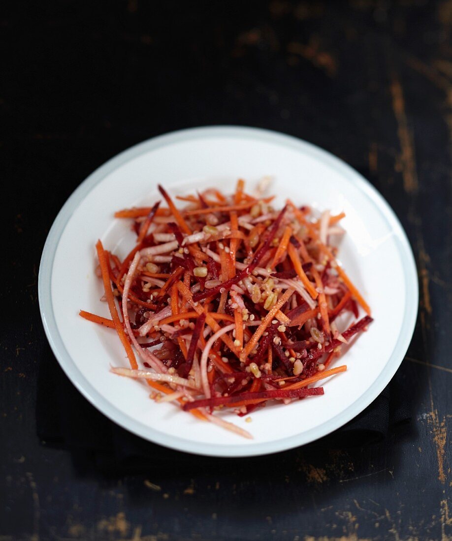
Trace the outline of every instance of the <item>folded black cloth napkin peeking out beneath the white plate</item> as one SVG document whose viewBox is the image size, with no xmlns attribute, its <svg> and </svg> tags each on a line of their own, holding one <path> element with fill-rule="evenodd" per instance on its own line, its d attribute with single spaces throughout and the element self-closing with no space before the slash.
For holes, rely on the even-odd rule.
<svg viewBox="0 0 452 541">
<path fill-rule="evenodd" d="M 409 397 L 399 370 L 361 414 L 310 445 L 331 449 L 378 443 L 391 428 L 410 420 Z M 179 462 L 199 460 L 191 454 L 149 443 L 110 421 L 71 384 L 50 348 L 41 358 L 36 423 L 37 435 L 46 445 L 69 450 L 76 466 L 86 467 L 88 461 L 106 473 L 145 471 L 151 464 L 164 467 L 173 456 Z"/>
</svg>

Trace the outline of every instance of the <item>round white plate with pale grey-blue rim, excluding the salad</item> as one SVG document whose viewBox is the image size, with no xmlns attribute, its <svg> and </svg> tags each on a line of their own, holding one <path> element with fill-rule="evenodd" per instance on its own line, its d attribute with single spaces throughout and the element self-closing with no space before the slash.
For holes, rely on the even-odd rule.
<svg viewBox="0 0 452 541">
<path fill-rule="evenodd" d="M 80 309 L 108 316 L 94 274 L 94 245 L 125 255 L 134 242 L 115 210 L 156 200 L 156 184 L 170 194 L 218 186 L 231 192 L 274 177 L 277 206 L 290 196 L 319 210 L 344 210 L 346 236 L 339 259 L 372 307 L 374 323 L 340 359 L 348 371 L 322 383 L 325 395 L 289 406 L 265 407 L 246 427 L 247 440 L 203 423 L 171 404 L 149 399 L 139 381 L 109 372 L 127 366 L 110 329 L 91 324 Z M 344 162 L 312 144 L 272 131 L 211 127 L 178 131 L 138 144 L 97 169 L 69 197 L 42 254 L 39 300 L 56 358 L 78 390 L 115 423 L 182 451 L 240 457 L 282 451 L 325 436 L 364 410 L 388 384 L 407 351 L 416 321 L 416 267 L 405 233 L 381 195 Z"/>
</svg>

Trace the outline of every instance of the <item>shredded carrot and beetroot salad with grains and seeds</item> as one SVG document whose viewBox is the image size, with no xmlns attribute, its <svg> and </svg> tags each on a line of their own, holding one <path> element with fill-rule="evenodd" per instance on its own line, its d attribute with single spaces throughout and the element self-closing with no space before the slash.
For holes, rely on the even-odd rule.
<svg viewBox="0 0 452 541">
<path fill-rule="evenodd" d="M 119 335 L 130 368 L 112 372 L 144 379 L 154 400 L 251 438 L 215 413 L 244 416 L 268 401 L 323 394 L 311 385 L 346 370 L 330 366 L 372 321 L 329 245 L 344 214 L 315 220 L 290 200 L 276 209 L 273 197 L 245 193 L 242 180 L 230 196 L 207 189 L 176 197 L 183 209 L 159 190 L 168 208 L 158 201 L 115 214 L 136 232 L 123 261 L 96 244 L 112 319 L 80 315 Z M 358 306 L 367 315 L 338 328 L 338 316 L 357 319 Z"/>
</svg>

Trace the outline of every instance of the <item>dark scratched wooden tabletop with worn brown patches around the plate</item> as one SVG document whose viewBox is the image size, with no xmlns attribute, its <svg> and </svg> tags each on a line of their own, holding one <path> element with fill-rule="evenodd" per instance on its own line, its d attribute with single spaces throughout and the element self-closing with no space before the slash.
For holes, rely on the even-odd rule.
<svg viewBox="0 0 452 541">
<path fill-rule="evenodd" d="M 452 2 L 11 5 L 0 35 L 0 540 L 452 539 Z M 355 450 L 172 456 L 123 477 L 75 468 L 36 436 L 40 364 L 56 362 L 37 304 L 45 237 L 102 162 L 205 124 L 318 144 L 394 208 L 420 275 L 400 368 L 412 423 Z"/>
</svg>

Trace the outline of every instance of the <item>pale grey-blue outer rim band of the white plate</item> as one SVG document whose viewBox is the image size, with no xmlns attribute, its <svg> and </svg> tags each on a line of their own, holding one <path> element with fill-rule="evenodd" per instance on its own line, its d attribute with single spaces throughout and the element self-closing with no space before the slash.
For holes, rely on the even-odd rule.
<svg viewBox="0 0 452 541">
<path fill-rule="evenodd" d="M 173 143 L 202 137 L 246 137 L 254 140 L 277 143 L 286 148 L 289 147 L 302 150 L 305 154 L 310 154 L 333 169 L 336 169 L 343 176 L 347 177 L 349 181 L 355 184 L 355 186 L 357 186 L 358 189 L 361 190 L 361 192 L 363 192 L 376 206 L 378 212 L 389 223 L 391 230 L 395 233 L 394 237 L 396 239 L 397 250 L 401 257 L 405 285 L 403 322 L 396 345 L 383 370 L 379 373 L 378 377 L 366 393 L 357 398 L 342 413 L 335 415 L 331 419 L 325 421 L 322 425 L 310 428 L 310 430 L 295 434 L 294 436 L 263 443 L 250 440 L 248 445 L 205 444 L 187 440 L 185 438 L 179 438 L 177 436 L 171 436 L 155 430 L 152 427 L 148 427 L 140 421 L 130 418 L 129 415 L 121 412 L 114 405 L 110 404 L 109 401 L 102 397 L 96 388 L 90 384 L 82 372 L 77 368 L 74 360 L 70 357 L 56 325 L 51 299 L 51 280 L 55 253 L 64 229 L 78 205 L 109 173 L 126 162 L 133 160 L 135 157 L 150 150 L 155 150 Z M 361 413 L 383 391 L 385 386 L 388 385 L 389 381 L 394 376 L 397 368 L 402 364 L 416 325 L 419 294 L 418 287 L 416 263 L 407 234 L 389 203 L 368 180 L 343 160 L 340 160 L 337 156 L 315 144 L 278 131 L 246 126 L 206 126 L 173 131 L 138 143 L 103 163 L 81 182 L 63 204 L 60 212 L 58 212 L 53 225 L 49 230 L 47 239 L 45 240 L 38 273 L 38 299 L 45 335 L 58 364 L 60 364 L 62 370 L 77 390 L 81 392 L 97 410 L 106 415 L 110 420 L 114 421 L 114 423 L 152 443 L 163 445 L 177 451 L 223 458 L 259 456 L 305 445 L 337 430 L 337 428 L 348 423 L 348 421 Z"/>
</svg>

